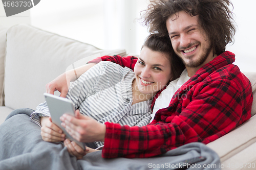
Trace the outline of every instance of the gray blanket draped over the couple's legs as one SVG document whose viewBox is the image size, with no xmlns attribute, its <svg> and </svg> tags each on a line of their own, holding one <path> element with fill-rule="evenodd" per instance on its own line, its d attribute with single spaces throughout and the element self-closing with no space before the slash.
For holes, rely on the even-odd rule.
<svg viewBox="0 0 256 170">
<path fill-rule="evenodd" d="M 0 125 L 0 143 L 0 169 L 221 169 L 218 155 L 198 142 L 152 158 L 103 159 L 99 151 L 76 160 L 62 142 L 43 141 L 40 127 L 27 114 L 10 115 Z M 188 166 L 184 162 L 199 156 L 206 159 Z"/>
</svg>

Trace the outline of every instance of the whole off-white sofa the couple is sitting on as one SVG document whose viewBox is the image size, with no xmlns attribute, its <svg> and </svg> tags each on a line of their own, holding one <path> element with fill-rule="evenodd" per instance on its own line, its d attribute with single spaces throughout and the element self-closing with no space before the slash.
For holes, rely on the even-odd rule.
<svg viewBox="0 0 256 170">
<path fill-rule="evenodd" d="M 44 102 L 45 85 L 65 72 L 103 55 L 126 51 L 101 50 L 29 25 L 0 26 L 0 124 L 17 108 L 35 109 Z M 256 96 L 256 72 L 245 72 Z M 252 115 L 256 113 L 253 101 Z M 256 168 L 256 116 L 208 145 L 221 158 L 222 169 Z"/>
</svg>

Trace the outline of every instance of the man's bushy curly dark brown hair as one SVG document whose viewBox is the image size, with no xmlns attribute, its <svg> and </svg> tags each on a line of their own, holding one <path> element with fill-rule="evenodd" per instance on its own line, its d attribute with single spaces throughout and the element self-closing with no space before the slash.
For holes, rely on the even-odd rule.
<svg viewBox="0 0 256 170">
<path fill-rule="evenodd" d="M 233 7 L 229 0 L 151 0 L 143 14 L 143 22 L 151 33 L 168 35 L 166 20 L 179 11 L 191 16 L 198 15 L 200 27 L 209 38 L 217 55 L 225 52 L 226 45 L 233 41 L 236 28 L 233 25 Z"/>
</svg>

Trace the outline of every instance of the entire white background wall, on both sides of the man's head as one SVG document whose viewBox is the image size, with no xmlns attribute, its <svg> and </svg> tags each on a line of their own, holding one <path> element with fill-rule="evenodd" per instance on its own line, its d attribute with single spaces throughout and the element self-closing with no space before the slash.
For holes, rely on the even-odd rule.
<svg viewBox="0 0 256 170">
<path fill-rule="evenodd" d="M 234 44 L 229 44 L 227 50 L 236 54 L 235 64 L 242 71 L 256 71 L 256 1 L 231 2 L 238 29 Z M 139 54 L 148 32 L 135 19 L 147 5 L 148 0 L 42 0 L 30 12 L 6 17 L 0 3 L 0 25 L 31 22 L 40 29 L 103 49 L 125 48 L 128 53 Z"/>
</svg>

